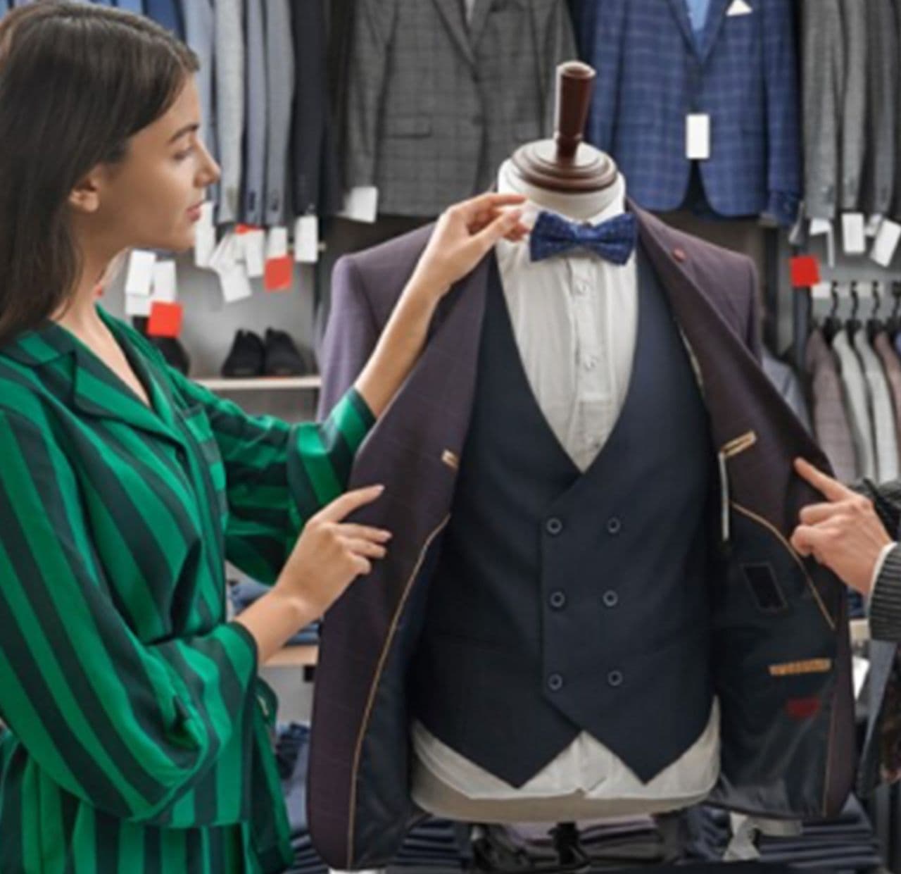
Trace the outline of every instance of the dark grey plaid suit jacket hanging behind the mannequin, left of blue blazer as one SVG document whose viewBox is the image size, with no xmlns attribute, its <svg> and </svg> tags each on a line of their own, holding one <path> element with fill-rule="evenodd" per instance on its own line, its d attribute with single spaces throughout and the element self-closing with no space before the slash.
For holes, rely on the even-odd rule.
<svg viewBox="0 0 901 874">
<path fill-rule="evenodd" d="M 566 0 L 359 0 L 347 184 L 379 211 L 436 215 L 487 189 L 523 142 L 551 136 L 555 71 L 576 57 Z"/>
</svg>

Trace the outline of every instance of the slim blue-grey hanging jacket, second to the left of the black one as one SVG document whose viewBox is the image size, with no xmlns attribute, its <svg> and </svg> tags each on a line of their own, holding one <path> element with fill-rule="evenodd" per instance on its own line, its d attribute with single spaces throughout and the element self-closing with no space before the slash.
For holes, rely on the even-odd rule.
<svg viewBox="0 0 901 874">
<path fill-rule="evenodd" d="M 266 133 L 268 87 L 266 81 L 266 0 L 246 0 L 247 111 L 244 131 L 243 209 L 249 224 L 263 223 L 266 186 Z M 227 59 L 226 59 L 227 63 Z"/>
</svg>

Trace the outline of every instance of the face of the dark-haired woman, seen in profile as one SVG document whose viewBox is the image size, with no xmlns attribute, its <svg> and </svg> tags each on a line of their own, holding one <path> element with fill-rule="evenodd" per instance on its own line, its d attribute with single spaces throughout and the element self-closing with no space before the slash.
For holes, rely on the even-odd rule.
<svg viewBox="0 0 901 874">
<path fill-rule="evenodd" d="M 194 245 L 205 189 L 220 170 L 200 140 L 194 77 L 166 114 L 132 136 L 125 158 L 98 175 L 92 231 L 114 250 Z"/>
</svg>

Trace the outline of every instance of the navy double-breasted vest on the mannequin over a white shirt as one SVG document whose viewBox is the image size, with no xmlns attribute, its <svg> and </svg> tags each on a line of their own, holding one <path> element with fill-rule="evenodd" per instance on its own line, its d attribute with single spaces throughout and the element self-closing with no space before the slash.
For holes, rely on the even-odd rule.
<svg viewBox="0 0 901 874">
<path fill-rule="evenodd" d="M 638 277 L 632 380 L 584 474 L 532 393 L 496 262 L 488 279 L 472 420 L 410 697 L 434 736 L 514 787 L 582 731 L 648 781 L 710 716 L 715 455 L 641 252 Z"/>
</svg>

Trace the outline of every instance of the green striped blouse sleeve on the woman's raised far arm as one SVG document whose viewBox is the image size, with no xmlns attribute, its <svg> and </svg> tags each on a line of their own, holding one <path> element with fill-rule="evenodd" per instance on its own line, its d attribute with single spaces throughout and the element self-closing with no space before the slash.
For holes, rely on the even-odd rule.
<svg viewBox="0 0 901 874">
<path fill-rule="evenodd" d="M 226 558 L 273 583 L 306 521 L 341 496 L 375 417 L 350 388 L 322 423 L 250 416 L 172 371 L 187 400 L 203 406 L 222 455 L 228 526 Z"/>
</svg>

